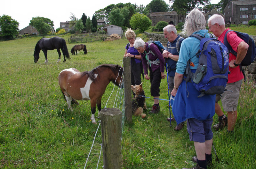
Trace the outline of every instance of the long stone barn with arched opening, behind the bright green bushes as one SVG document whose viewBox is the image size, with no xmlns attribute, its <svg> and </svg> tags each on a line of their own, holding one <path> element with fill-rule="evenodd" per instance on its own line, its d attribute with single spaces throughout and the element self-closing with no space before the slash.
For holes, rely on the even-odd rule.
<svg viewBox="0 0 256 169">
<path fill-rule="evenodd" d="M 185 15 L 177 14 L 175 11 L 169 12 L 151 12 L 148 13 L 148 18 L 152 21 L 152 26 L 156 26 L 159 21 L 166 21 L 169 24 L 177 25 L 180 22 L 185 22 Z"/>
</svg>

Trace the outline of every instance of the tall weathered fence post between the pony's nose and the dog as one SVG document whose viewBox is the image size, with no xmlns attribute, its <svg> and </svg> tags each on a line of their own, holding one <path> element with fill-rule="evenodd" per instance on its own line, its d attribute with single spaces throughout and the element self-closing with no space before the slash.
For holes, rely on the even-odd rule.
<svg viewBox="0 0 256 169">
<path fill-rule="evenodd" d="M 124 62 L 124 115 L 132 123 L 131 57 L 123 57 Z"/>
</svg>

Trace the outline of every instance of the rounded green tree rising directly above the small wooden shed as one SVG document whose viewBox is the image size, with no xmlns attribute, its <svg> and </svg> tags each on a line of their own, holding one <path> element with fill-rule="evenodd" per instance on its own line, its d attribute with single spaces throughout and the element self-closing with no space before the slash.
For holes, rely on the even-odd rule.
<svg viewBox="0 0 256 169">
<path fill-rule="evenodd" d="M 123 24 L 124 24 L 124 15 L 123 15 L 122 11 L 119 8 L 115 8 L 115 9 L 112 9 L 112 11 L 109 13 L 108 20 L 113 25 L 123 26 Z"/>
</svg>

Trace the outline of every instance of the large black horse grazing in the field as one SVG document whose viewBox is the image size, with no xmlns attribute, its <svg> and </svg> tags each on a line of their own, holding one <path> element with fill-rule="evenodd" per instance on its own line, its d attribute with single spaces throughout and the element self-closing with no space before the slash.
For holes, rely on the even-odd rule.
<svg viewBox="0 0 256 169">
<path fill-rule="evenodd" d="M 66 62 L 65 56 L 67 59 L 70 59 L 66 41 L 59 36 L 55 36 L 52 38 L 42 38 L 42 39 L 38 40 L 38 42 L 36 43 L 35 52 L 34 52 L 34 58 L 35 58 L 34 62 L 35 63 L 39 59 L 39 53 L 40 53 L 41 49 L 44 52 L 45 63 L 48 62 L 47 50 L 53 50 L 53 49 L 57 49 L 57 51 L 59 53 L 59 59 L 57 62 L 60 62 L 60 55 L 61 55 L 60 49 L 61 49 L 63 57 L 64 57 L 63 62 Z"/>
</svg>

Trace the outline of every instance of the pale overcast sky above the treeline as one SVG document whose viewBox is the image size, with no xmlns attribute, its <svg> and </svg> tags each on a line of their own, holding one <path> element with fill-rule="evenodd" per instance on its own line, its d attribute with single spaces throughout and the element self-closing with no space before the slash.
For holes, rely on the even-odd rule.
<svg viewBox="0 0 256 169">
<path fill-rule="evenodd" d="M 164 0 L 169 4 L 169 0 Z M 23 29 L 29 25 L 33 17 L 49 18 L 53 21 L 54 28 L 60 27 L 60 22 L 70 20 L 70 12 L 76 18 L 81 18 L 83 13 L 92 19 L 95 11 L 98 11 L 110 4 L 128 3 L 143 4 L 145 7 L 151 0 L 2 0 L 0 5 L 0 16 L 9 15 L 12 19 L 17 20 L 20 25 L 19 29 Z M 211 4 L 217 4 L 220 0 L 212 0 Z"/>
</svg>

